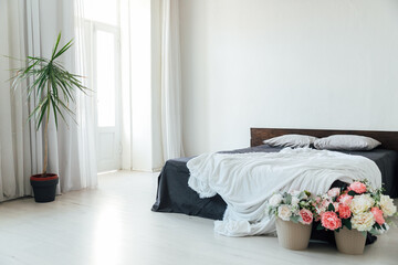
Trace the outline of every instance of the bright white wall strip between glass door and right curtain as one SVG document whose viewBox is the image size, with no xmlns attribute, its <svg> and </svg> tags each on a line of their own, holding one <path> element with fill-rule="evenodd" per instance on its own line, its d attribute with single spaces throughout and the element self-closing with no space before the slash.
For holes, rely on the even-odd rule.
<svg viewBox="0 0 398 265">
<path fill-rule="evenodd" d="M 153 169 L 151 1 L 121 1 L 122 166 Z M 155 114 L 154 114 L 155 115 Z"/>
</svg>

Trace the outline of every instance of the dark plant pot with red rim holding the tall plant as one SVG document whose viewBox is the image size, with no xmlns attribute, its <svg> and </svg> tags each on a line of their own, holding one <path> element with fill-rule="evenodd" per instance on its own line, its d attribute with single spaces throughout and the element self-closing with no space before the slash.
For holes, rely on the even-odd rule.
<svg viewBox="0 0 398 265">
<path fill-rule="evenodd" d="M 52 202 L 55 200 L 56 184 L 60 178 L 56 174 L 34 174 L 30 178 L 35 202 Z"/>
</svg>

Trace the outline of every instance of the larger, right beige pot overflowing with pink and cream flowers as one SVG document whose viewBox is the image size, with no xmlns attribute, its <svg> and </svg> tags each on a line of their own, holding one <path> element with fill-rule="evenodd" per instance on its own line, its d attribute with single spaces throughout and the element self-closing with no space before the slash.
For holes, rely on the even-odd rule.
<svg viewBox="0 0 398 265">
<path fill-rule="evenodd" d="M 313 202 L 317 230 L 335 233 L 337 250 L 346 254 L 362 254 L 366 234 L 380 234 L 388 230 L 388 218 L 396 215 L 392 199 L 383 189 L 373 189 L 366 180 L 355 181 L 345 190 L 331 189 Z"/>
</svg>

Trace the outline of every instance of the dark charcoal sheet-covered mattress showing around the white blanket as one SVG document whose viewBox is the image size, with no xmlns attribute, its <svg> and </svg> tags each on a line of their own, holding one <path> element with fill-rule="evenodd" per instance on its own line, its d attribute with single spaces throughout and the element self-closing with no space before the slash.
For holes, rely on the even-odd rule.
<svg viewBox="0 0 398 265">
<path fill-rule="evenodd" d="M 242 152 L 277 152 L 282 148 L 266 145 L 222 151 L 229 153 Z M 373 160 L 381 172 L 386 194 L 398 197 L 397 165 L 398 153 L 392 150 L 375 149 L 371 151 L 343 151 L 344 153 L 363 156 Z M 221 220 L 227 204 L 220 195 L 200 199 L 198 193 L 188 187 L 189 170 L 187 162 L 191 158 L 170 159 L 166 162 L 158 178 L 158 191 L 153 211 L 175 212 Z"/>
</svg>

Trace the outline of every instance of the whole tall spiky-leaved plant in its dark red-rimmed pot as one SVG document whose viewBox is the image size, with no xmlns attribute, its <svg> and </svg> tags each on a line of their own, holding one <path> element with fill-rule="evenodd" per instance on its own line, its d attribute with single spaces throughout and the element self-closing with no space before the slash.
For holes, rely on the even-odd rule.
<svg viewBox="0 0 398 265">
<path fill-rule="evenodd" d="M 61 33 L 57 35 L 51 57 L 28 56 L 27 65 L 17 71 L 12 77 L 12 88 L 17 89 L 22 81 L 31 81 L 25 87 L 28 99 L 34 95 L 36 100 L 29 120 L 34 118 L 36 121 L 36 130 L 44 124 L 44 161 L 43 172 L 34 174 L 30 178 L 33 188 L 34 200 L 36 202 L 51 202 L 55 200 L 56 186 L 59 176 L 48 172 L 48 128 L 50 115 L 54 117 L 55 128 L 57 129 L 59 117 L 65 123 L 64 115 L 73 116 L 70 109 L 70 102 L 75 102 L 76 89 L 85 93 L 85 87 L 80 75 L 67 72 L 59 59 L 73 45 L 73 40 L 59 49 Z"/>
</svg>

